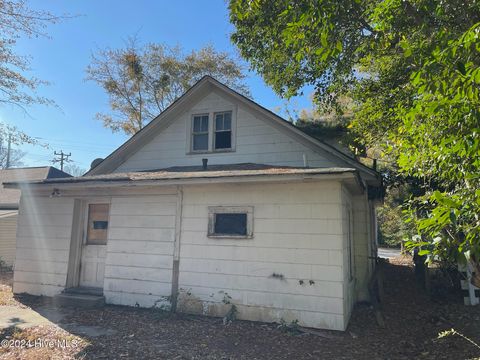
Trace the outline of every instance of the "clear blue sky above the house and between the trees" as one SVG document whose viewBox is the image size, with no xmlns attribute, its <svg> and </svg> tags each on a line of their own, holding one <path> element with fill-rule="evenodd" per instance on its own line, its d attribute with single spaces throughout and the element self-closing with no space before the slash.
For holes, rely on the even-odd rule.
<svg viewBox="0 0 480 360">
<path fill-rule="evenodd" d="M 39 88 L 38 95 L 58 105 L 31 106 L 27 112 L 15 106 L 0 107 L 1 122 L 48 144 L 18 146 L 26 152 L 25 166 L 52 165 L 53 152 L 63 150 L 71 153 L 71 164 L 89 169 L 93 159 L 106 157 L 128 139 L 95 119 L 97 112 L 109 111 L 104 90 L 85 80 L 85 68 L 98 49 L 121 48 L 128 37 L 136 35 L 143 43 L 180 45 L 186 52 L 212 44 L 240 59 L 230 41 L 234 28 L 225 0 L 42 0 L 31 1 L 29 6 L 78 16 L 49 25 L 49 38 L 21 38 L 16 45 L 17 53 L 31 57 L 30 75 L 50 83 Z M 253 99 L 266 108 L 278 112 L 284 104 L 258 74 L 248 71 L 246 84 Z M 309 107 L 307 91 L 291 104 L 298 109 Z"/>
</svg>

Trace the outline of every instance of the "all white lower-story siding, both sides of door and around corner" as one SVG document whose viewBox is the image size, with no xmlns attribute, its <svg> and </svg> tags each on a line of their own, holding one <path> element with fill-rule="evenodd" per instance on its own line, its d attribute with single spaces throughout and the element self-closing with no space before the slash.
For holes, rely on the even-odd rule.
<svg viewBox="0 0 480 360">
<path fill-rule="evenodd" d="M 340 182 L 158 187 L 150 195 L 108 195 L 107 303 L 170 305 L 176 224 L 180 311 L 224 316 L 235 304 L 248 320 L 298 320 L 344 330 L 365 297 L 368 201 Z M 81 196 L 83 199 L 88 199 Z M 346 209 L 354 216 L 355 282 L 348 279 Z M 14 291 L 53 296 L 66 283 L 74 197 L 23 196 Z M 253 206 L 253 239 L 207 237 L 209 206 Z M 277 276 L 274 276 L 276 274 Z M 279 278 L 280 276 L 280 278 Z M 231 304 L 225 304 L 230 302 Z"/>
</svg>

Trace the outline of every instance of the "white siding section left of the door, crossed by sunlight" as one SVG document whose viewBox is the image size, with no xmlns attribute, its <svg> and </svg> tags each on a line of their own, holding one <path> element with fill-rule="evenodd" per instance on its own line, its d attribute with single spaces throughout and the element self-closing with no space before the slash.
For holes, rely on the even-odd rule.
<svg viewBox="0 0 480 360">
<path fill-rule="evenodd" d="M 53 296 L 65 288 L 72 215 L 71 198 L 22 195 L 14 293 Z"/>
</svg>

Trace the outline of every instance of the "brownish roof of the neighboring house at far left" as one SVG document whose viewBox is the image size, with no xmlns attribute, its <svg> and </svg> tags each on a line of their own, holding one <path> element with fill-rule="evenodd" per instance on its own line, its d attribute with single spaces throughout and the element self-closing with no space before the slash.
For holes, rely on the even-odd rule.
<svg viewBox="0 0 480 360">
<path fill-rule="evenodd" d="M 3 183 L 14 181 L 40 181 L 71 177 L 53 166 L 11 168 L 0 170 L 0 209 L 18 209 L 20 190 L 6 189 Z"/>
</svg>

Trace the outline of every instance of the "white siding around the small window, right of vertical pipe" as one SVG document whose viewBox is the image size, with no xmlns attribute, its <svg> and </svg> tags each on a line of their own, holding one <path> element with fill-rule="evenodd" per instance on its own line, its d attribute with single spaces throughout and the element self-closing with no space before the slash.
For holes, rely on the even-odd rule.
<svg viewBox="0 0 480 360">
<path fill-rule="evenodd" d="M 228 294 L 243 319 L 343 330 L 340 189 L 333 182 L 185 187 L 180 310 L 223 316 Z M 253 206 L 254 238 L 208 238 L 208 206 L 219 205 Z"/>
</svg>

